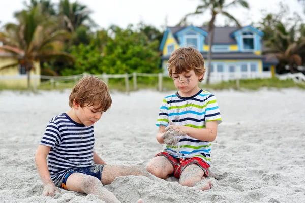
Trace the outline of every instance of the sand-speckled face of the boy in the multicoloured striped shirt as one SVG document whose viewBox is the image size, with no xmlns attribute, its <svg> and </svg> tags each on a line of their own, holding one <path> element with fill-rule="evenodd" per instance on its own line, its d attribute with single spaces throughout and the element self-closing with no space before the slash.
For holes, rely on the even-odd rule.
<svg viewBox="0 0 305 203">
<path fill-rule="evenodd" d="M 175 68 L 173 68 L 172 72 L 175 72 Z M 180 93 L 184 94 L 185 96 L 193 96 L 198 91 L 198 79 L 201 79 L 203 77 L 203 74 L 197 76 L 194 70 L 192 70 L 190 72 L 172 74 L 172 76 L 174 85 Z"/>
</svg>

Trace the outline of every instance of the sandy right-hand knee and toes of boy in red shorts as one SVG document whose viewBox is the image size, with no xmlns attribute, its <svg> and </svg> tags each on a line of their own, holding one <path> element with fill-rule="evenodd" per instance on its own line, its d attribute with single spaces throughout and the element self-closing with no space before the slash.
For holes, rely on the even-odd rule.
<svg viewBox="0 0 305 203">
<path fill-rule="evenodd" d="M 196 183 L 202 180 L 203 175 L 204 171 L 197 164 L 188 165 L 180 175 L 179 184 L 193 187 Z M 208 180 L 207 185 L 201 187 L 201 190 L 208 190 L 211 186 L 212 183 Z"/>
</svg>

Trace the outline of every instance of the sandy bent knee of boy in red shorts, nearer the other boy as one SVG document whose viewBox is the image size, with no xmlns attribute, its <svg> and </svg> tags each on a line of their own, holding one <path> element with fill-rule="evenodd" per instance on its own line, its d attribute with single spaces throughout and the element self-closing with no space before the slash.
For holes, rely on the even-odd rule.
<svg viewBox="0 0 305 203">
<path fill-rule="evenodd" d="M 147 164 L 146 170 L 158 178 L 166 179 L 174 172 L 174 167 L 164 156 L 156 156 Z"/>
</svg>

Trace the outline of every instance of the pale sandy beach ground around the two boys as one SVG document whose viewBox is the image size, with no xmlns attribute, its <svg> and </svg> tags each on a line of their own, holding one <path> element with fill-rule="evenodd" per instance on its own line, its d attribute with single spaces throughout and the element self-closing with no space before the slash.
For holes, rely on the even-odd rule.
<svg viewBox="0 0 305 203">
<path fill-rule="evenodd" d="M 60 190 L 42 197 L 35 152 L 48 121 L 69 110 L 66 91 L 0 92 L 0 202 L 102 202 Z M 223 117 L 212 146 L 218 180 L 199 191 L 176 179 L 119 177 L 105 186 L 122 202 L 305 202 L 305 91 L 214 91 Z M 169 92 L 112 93 L 95 124 L 95 150 L 108 164 L 146 165 L 163 149 L 155 122 Z"/>
</svg>

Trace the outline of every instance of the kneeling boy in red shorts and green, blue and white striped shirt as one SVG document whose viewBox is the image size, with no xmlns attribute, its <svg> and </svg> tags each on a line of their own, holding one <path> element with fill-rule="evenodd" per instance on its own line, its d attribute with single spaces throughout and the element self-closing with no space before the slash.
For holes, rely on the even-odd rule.
<svg viewBox="0 0 305 203">
<path fill-rule="evenodd" d="M 205 72 L 198 50 L 175 50 L 169 58 L 168 71 L 178 91 L 163 99 L 156 123 L 157 141 L 166 143 L 166 148 L 146 169 L 163 179 L 173 175 L 180 185 L 192 187 L 208 176 L 211 142 L 222 122 L 221 114 L 215 95 L 198 87 Z M 202 190 L 211 188 L 211 181 L 207 183 Z"/>
</svg>

